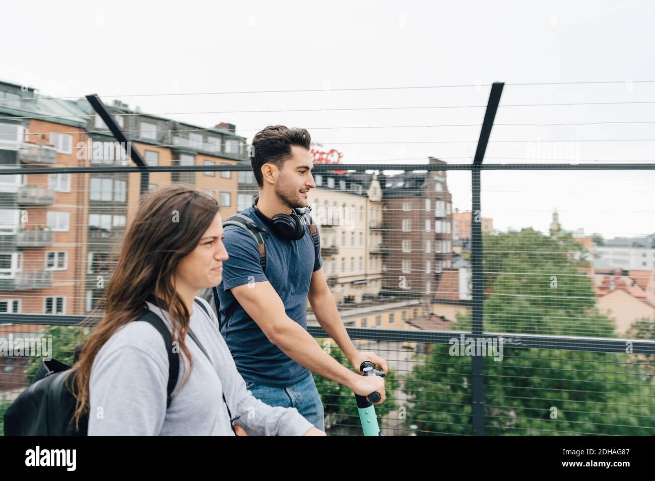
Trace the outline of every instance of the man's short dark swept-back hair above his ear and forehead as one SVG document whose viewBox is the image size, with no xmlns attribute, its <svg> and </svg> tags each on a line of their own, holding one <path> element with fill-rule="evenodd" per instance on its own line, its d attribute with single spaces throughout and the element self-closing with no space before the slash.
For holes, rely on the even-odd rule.
<svg viewBox="0 0 655 481">
<path fill-rule="evenodd" d="M 260 130 L 252 139 L 250 163 L 257 185 L 264 187 L 261 166 L 273 164 L 282 170 L 284 162 L 291 157 L 291 145 L 310 150 L 312 139 L 305 129 L 288 128 L 284 125 L 269 125 Z"/>
</svg>

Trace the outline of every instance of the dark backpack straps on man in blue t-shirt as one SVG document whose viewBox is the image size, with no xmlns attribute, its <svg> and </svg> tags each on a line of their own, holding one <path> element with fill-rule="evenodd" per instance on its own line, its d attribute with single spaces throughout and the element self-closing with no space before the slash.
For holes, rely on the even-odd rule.
<svg viewBox="0 0 655 481">
<path fill-rule="evenodd" d="M 307 225 L 309 226 L 309 232 L 312 236 L 312 240 L 314 241 L 314 262 L 316 262 L 316 259 L 318 258 L 318 253 L 320 252 L 320 248 L 321 248 L 318 229 L 316 228 L 316 224 L 314 224 L 314 220 L 309 215 L 309 212 L 305 211 L 302 217 L 305 219 L 305 223 L 307 223 Z M 261 270 L 263 272 L 266 272 L 266 245 L 264 243 L 264 238 L 261 234 L 262 232 L 266 232 L 267 229 L 265 227 L 261 227 L 257 225 L 255 222 L 253 222 L 252 219 L 250 219 L 250 217 L 243 214 L 234 214 L 228 217 L 227 219 L 225 219 L 225 221 L 223 221 L 223 228 L 227 226 L 237 226 L 239 228 L 242 228 L 243 230 L 248 232 L 250 236 L 252 236 L 252 238 L 257 243 L 257 248 L 259 249 L 259 264 L 261 265 Z M 200 289 L 200 296 L 204 298 L 204 300 L 209 302 L 210 305 L 212 304 L 212 298 L 214 298 L 216 317 L 219 323 L 218 329 L 222 332 L 223 327 L 227 325 L 227 323 L 234 315 L 234 312 L 236 312 L 236 309 L 239 307 L 238 301 L 234 299 L 234 303 L 230 306 L 227 312 L 225 312 L 225 319 L 221 321 L 221 302 L 218 297 L 217 286 L 208 289 Z"/>
</svg>

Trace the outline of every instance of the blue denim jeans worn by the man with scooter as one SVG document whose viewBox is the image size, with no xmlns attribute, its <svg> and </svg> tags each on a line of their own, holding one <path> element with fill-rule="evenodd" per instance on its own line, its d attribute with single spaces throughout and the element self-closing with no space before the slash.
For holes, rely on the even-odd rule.
<svg viewBox="0 0 655 481">
<path fill-rule="evenodd" d="M 296 408 L 301 416 L 312 423 L 316 429 L 326 430 L 323 403 L 318 395 L 314 376 L 311 374 L 289 387 L 271 387 L 248 382 L 246 389 L 259 401 L 265 402 L 269 406 Z"/>
</svg>

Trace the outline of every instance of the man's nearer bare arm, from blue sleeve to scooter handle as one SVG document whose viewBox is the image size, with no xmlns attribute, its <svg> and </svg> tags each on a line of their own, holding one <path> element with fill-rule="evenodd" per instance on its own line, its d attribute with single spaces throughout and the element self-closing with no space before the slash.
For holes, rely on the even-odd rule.
<svg viewBox="0 0 655 481">
<path fill-rule="evenodd" d="M 250 287 L 252 286 L 252 287 Z M 282 299 L 269 281 L 232 288 L 234 298 L 272 344 L 301 366 L 367 396 L 378 391 L 384 401 L 384 382 L 378 376 L 358 376 L 327 354 L 307 330 L 286 315 Z"/>
</svg>

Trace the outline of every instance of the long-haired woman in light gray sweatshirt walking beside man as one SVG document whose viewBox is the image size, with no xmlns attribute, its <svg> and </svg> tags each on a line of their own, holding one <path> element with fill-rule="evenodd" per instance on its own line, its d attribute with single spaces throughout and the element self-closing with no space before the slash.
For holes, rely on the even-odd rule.
<svg viewBox="0 0 655 481">
<path fill-rule="evenodd" d="M 88 414 L 88 435 L 230 436 L 233 423 L 248 435 L 325 435 L 295 408 L 273 408 L 246 390 L 214 312 L 195 302 L 199 289 L 221 282 L 222 236 L 219 206 L 202 192 L 172 185 L 145 198 L 125 234 L 103 319 L 75 365 L 75 419 Z M 164 319 L 179 352 L 168 408 L 162 334 L 134 322 L 145 306 Z"/>
</svg>

